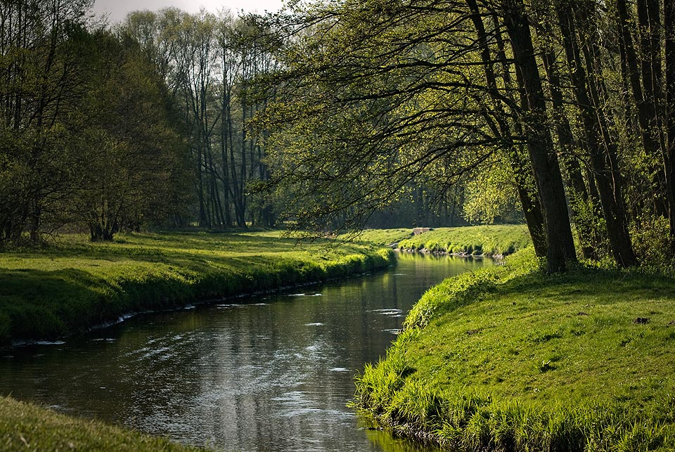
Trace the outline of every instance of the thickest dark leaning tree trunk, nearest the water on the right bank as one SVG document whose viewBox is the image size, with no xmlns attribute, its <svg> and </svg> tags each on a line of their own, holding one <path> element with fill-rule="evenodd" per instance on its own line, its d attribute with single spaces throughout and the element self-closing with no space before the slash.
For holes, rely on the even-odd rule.
<svg viewBox="0 0 675 452">
<path fill-rule="evenodd" d="M 546 100 L 534 56 L 529 20 L 525 15 L 522 0 L 502 0 L 501 5 L 516 70 L 522 78 L 522 119 L 527 149 L 546 219 L 548 271 L 565 271 L 567 262 L 576 261 L 577 254 L 574 250 L 570 217 L 567 214 L 563 176 L 560 174 L 558 157 L 553 150 L 553 140 L 546 126 Z"/>
</svg>

